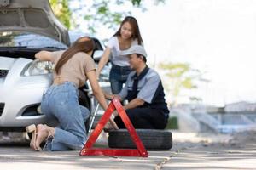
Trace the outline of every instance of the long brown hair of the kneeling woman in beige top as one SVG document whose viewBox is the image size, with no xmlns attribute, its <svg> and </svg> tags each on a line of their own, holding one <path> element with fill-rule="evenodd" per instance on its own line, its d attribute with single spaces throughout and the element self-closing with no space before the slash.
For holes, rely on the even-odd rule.
<svg viewBox="0 0 256 170">
<path fill-rule="evenodd" d="M 76 42 L 61 55 L 61 59 L 55 66 L 55 72 L 59 74 L 62 65 L 67 63 L 68 59 L 71 59 L 74 54 L 79 52 L 88 53 L 93 51 L 95 47 L 95 42 L 90 37 L 79 37 L 79 39 L 77 39 Z"/>
</svg>

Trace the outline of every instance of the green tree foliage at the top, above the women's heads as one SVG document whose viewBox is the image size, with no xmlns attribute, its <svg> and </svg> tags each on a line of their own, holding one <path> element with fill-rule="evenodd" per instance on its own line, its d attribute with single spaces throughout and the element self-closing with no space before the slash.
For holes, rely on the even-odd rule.
<svg viewBox="0 0 256 170">
<path fill-rule="evenodd" d="M 165 3 L 165 0 L 151 0 L 155 5 Z M 75 23 L 77 18 L 72 17 L 73 14 L 81 11 L 86 11 L 86 14 L 82 17 L 88 23 L 88 29 L 90 33 L 95 33 L 98 27 L 107 27 L 109 29 L 116 29 L 119 26 L 120 21 L 125 15 L 131 15 L 131 10 L 126 8 L 131 6 L 132 8 L 139 8 L 143 11 L 145 8 L 146 0 L 49 0 L 55 15 L 61 22 L 67 26 L 67 28 L 73 28 L 79 26 L 80 23 Z M 79 3 L 79 7 L 73 8 L 72 10 L 68 6 L 68 3 Z M 114 6 L 114 8 L 112 8 Z M 125 7 L 125 8 L 124 8 Z M 70 20 L 73 20 L 71 22 Z"/>
</svg>

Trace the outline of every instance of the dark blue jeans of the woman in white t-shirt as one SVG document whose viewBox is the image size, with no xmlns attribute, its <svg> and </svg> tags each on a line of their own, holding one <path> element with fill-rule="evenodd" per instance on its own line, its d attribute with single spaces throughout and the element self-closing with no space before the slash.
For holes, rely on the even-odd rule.
<svg viewBox="0 0 256 170">
<path fill-rule="evenodd" d="M 112 64 L 112 68 L 109 73 L 112 94 L 119 94 L 130 72 L 130 66 L 119 66 Z"/>
</svg>

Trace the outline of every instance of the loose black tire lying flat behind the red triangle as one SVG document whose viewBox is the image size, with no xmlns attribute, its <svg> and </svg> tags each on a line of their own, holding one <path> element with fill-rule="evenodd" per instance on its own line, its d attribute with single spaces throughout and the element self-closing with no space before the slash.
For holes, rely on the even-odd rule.
<svg viewBox="0 0 256 170">
<path fill-rule="evenodd" d="M 136 129 L 147 150 L 170 150 L 172 148 L 172 133 L 166 130 Z M 126 129 L 109 132 L 108 146 L 110 148 L 136 149 Z"/>
</svg>

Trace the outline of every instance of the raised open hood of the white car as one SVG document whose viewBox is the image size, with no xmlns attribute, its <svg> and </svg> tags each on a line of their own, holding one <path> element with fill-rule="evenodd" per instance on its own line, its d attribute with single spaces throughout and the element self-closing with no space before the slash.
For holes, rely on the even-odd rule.
<svg viewBox="0 0 256 170">
<path fill-rule="evenodd" d="M 48 0 L 0 0 L 0 31 L 34 32 L 70 44 L 67 28 Z"/>
</svg>

